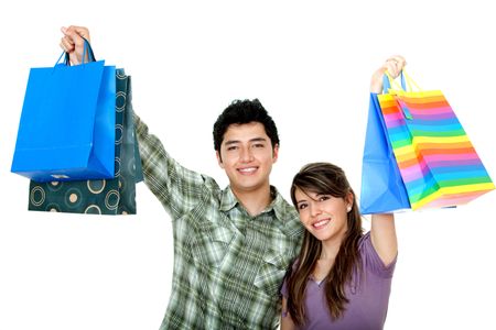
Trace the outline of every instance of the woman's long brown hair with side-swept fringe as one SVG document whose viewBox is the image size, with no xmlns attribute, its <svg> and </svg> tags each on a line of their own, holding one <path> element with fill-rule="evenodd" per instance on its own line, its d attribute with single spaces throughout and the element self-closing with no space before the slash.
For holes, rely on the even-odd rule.
<svg viewBox="0 0 496 330">
<path fill-rule="evenodd" d="M 347 231 L 339 251 L 325 280 L 325 298 L 333 319 L 343 316 L 346 304 L 345 284 L 351 282 L 354 266 L 359 267 L 358 241 L 363 235 L 362 217 L 345 173 L 330 163 L 312 163 L 305 165 L 294 176 L 291 185 L 291 199 L 294 207 L 295 190 L 331 195 L 346 200 L 348 193 L 353 194 L 352 210 L 347 213 Z M 290 268 L 288 277 L 288 311 L 295 324 L 304 324 L 306 311 L 304 306 L 305 289 L 316 262 L 321 256 L 322 243 L 305 230 L 298 263 Z"/>
</svg>

